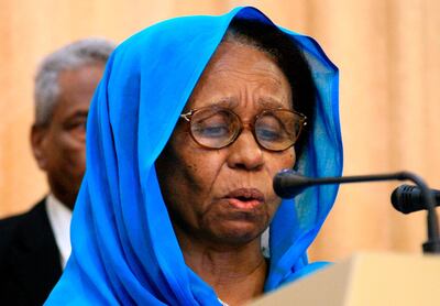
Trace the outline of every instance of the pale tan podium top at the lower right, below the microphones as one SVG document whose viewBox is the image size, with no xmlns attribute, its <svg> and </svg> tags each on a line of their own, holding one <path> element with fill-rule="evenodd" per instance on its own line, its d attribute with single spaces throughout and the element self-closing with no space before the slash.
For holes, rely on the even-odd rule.
<svg viewBox="0 0 440 306">
<path fill-rule="evenodd" d="M 440 256 L 361 253 L 251 305 L 440 305 Z"/>
</svg>

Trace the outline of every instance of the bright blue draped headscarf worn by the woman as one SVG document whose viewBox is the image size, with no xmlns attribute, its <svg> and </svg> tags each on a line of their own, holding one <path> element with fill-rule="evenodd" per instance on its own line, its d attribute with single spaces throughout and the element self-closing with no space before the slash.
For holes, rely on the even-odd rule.
<svg viewBox="0 0 440 306">
<path fill-rule="evenodd" d="M 47 305 L 219 304 L 185 264 L 154 163 L 234 18 L 272 24 L 253 8 L 177 18 L 135 34 L 112 54 L 90 107 L 73 252 Z M 338 69 L 312 39 L 282 31 L 304 52 L 317 87 L 314 130 L 296 168 L 308 176 L 341 175 Z M 321 186 L 283 200 L 271 223 L 265 291 L 318 267 L 306 251 L 337 192 Z"/>
</svg>

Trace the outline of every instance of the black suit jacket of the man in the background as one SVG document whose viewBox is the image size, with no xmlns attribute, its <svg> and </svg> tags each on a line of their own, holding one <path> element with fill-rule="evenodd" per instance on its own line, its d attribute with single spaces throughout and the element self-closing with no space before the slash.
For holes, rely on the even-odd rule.
<svg viewBox="0 0 440 306">
<path fill-rule="evenodd" d="M 0 220 L 0 305 L 42 305 L 62 272 L 45 200 Z"/>
</svg>

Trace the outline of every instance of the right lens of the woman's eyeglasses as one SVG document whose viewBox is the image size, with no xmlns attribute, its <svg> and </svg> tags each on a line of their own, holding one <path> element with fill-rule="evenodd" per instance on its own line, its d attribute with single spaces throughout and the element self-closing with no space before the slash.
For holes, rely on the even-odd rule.
<svg viewBox="0 0 440 306">
<path fill-rule="evenodd" d="M 304 118 L 288 110 L 263 112 L 255 121 L 258 143 L 272 151 L 283 151 L 294 145 L 304 124 Z"/>
</svg>

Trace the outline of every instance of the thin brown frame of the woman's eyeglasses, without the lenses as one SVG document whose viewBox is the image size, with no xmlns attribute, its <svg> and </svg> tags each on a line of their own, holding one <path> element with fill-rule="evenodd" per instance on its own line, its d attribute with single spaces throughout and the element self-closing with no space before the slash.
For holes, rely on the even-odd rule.
<svg viewBox="0 0 440 306">
<path fill-rule="evenodd" d="M 208 146 L 208 145 L 205 145 L 205 144 L 200 143 L 199 141 L 197 141 L 197 139 L 196 139 L 195 135 L 193 134 L 193 129 L 191 129 L 191 119 L 193 119 L 193 116 L 194 116 L 196 112 L 198 112 L 198 111 L 200 111 L 200 110 L 205 110 L 205 109 L 217 109 L 217 110 L 219 110 L 219 111 L 229 111 L 229 112 L 231 112 L 233 116 L 235 116 L 235 117 L 239 119 L 240 129 L 239 129 L 238 133 L 237 133 L 233 138 L 231 138 L 231 140 L 230 140 L 227 144 L 224 144 L 224 145 L 222 145 L 222 146 L 220 146 L 220 147 Z M 296 114 L 296 116 L 299 117 L 299 122 L 298 122 L 298 123 L 299 123 L 299 130 L 298 130 L 297 136 L 296 136 L 296 139 L 294 140 L 294 142 L 293 142 L 289 146 L 287 146 L 287 147 L 285 147 L 285 149 L 279 149 L 279 150 L 268 149 L 268 147 L 264 146 L 262 143 L 260 143 L 258 138 L 257 138 L 256 134 L 255 134 L 255 122 L 258 120 L 258 118 L 265 116 L 265 114 L 268 113 L 268 112 L 273 112 L 273 111 L 287 111 L 287 112 L 294 113 L 294 114 Z M 200 145 L 201 147 L 210 149 L 210 150 L 219 150 L 219 149 L 223 149 L 223 147 L 227 147 L 227 146 L 231 145 L 231 144 L 234 143 L 235 140 L 241 135 L 241 133 L 243 132 L 243 130 L 244 130 L 245 128 L 249 128 L 249 129 L 251 130 L 253 136 L 254 136 L 255 142 L 256 142 L 261 147 L 263 147 L 264 150 L 267 150 L 267 151 L 272 151 L 272 152 L 282 152 L 282 151 L 285 151 L 285 150 L 292 147 L 292 146 L 298 141 L 299 135 L 301 134 L 301 131 L 302 131 L 304 127 L 307 125 L 307 117 L 306 117 L 304 113 L 300 113 L 300 112 L 295 111 L 295 110 L 284 109 L 284 108 L 265 109 L 265 110 L 261 111 L 260 113 L 257 113 L 257 114 L 254 117 L 254 119 L 253 119 L 252 122 L 243 122 L 243 121 L 241 120 L 240 116 L 238 116 L 234 111 L 232 111 L 232 110 L 229 109 L 229 108 L 210 107 L 210 106 L 190 109 L 189 111 L 187 111 L 187 112 L 185 112 L 185 113 L 180 113 L 180 117 L 179 117 L 179 118 L 184 119 L 186 122 L 189 123 L 189 124 L 188 124 L 188 127 L 189 127 L 189 134 L 191 135 L 193 140 L 194 140 L 198 145 Z"/>
</svg>

